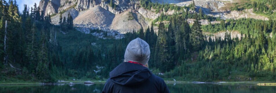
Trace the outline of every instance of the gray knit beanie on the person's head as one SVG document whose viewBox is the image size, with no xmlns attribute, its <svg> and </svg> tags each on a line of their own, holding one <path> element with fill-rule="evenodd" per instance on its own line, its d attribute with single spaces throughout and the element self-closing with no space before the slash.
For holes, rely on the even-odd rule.
<svg viewBox="0 0 276 93">
<path fill-rule="evenodd" d="M 125 52 L 125 62 L 138 62 L 143 65 L 150 59 L 150 47 L 147 42 L 140 38 L 130 41 Z"/>
</svg>

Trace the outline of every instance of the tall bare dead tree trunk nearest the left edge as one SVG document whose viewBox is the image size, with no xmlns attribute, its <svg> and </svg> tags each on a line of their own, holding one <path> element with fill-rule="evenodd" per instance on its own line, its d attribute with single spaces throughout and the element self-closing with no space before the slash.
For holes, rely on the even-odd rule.
<svg viewBox="0 0 276 93">
<path fill-rule="evenodd" d="M 8 37 L 7 37 L 7 34 L 8 34 L 8 32 L 7 32 L 7 20 L 6 20 L 6 26 L 5 26 L 5 37 L 4 37 L 4 54 L 5 54 L 5 56 L 4 56 L 4 65 L 7 65 L 8 64 L 8 53 L 7 53 L 7 47 L 8 47 L 8 45 L 7 45 L 7 40 L 8 40 Z"/>
</svg>

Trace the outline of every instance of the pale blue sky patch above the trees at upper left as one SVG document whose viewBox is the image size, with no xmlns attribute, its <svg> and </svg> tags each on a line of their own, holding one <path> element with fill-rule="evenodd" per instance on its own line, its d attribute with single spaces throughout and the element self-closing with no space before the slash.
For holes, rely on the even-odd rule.
<svg viewBox="0 0 276 93">
<path fill-rule="evenodd" d="M 8 2 L 9 0 L 5 0 L 5 1 Z M 19 7 L 19 11 L 22 11 L 24 9 L 24 4 L 26 4 L 29 8 L 31 8 L 33 7 L 33 5 L 35 5 L 35 3 L 38 6 L 40 0 L 16 0 L 16 1 Z"/>
</svg>

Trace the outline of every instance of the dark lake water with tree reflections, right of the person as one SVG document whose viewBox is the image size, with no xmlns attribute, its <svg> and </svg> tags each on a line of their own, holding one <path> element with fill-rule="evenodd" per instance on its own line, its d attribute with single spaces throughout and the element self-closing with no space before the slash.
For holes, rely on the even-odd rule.
<svg viewBox="0 0 276 93">
<path fill-rule="evenodd" d="M 273 93 L 275 86 L 217 85 L 217 84 L 168 84 L 172 93 Z"/>
</svg>

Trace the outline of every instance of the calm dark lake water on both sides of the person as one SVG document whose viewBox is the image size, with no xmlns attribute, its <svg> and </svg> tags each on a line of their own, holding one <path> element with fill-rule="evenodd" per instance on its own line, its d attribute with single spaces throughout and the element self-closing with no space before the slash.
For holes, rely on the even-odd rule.
<svg viewBox="0 0 276 93">
<path fill-rule="evenodd" d="M 276 93 L 276 86 L 167 84 L 171 93 Z M 104 84 L 5 85 L 0 93 L 101 93 Z M 73 89 L 72 89 L 73 88 Z"/>
</svg>

